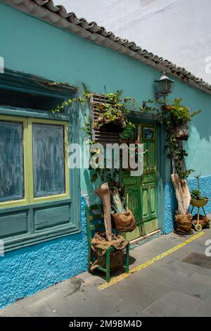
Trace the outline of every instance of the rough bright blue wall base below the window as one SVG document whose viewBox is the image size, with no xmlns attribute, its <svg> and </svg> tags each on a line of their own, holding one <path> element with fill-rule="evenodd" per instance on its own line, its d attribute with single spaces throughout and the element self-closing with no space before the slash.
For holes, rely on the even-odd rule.
<svg viewBox="0 0 211 331">
<path fill-rule="evenodd" d="M 0 308 L 87 270 L 87 222 L 81 198 L 82 232 L 0 256 Z"/>
</svg>

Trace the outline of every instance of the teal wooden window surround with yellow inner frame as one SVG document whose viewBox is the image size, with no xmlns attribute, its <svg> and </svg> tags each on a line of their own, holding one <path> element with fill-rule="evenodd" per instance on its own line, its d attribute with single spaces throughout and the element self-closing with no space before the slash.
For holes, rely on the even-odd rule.
<svg viewBox="0 0 211 331">
<path fill-rule="evenodd" d="M 52 85 L 52 81 L 46 80 L 44 77 L 38 77 L 32 74 L 18 73 L 17 71 L 8 70 L 5 68 L 4 74 L 0 75 L 1 85 L 1 105 L 0 105 L 0 121 L 7 121 L 12 123 L 23 123 L 22 128 L 19 125 L 14 125 L 14 132 L 18 140 L 14 137 L 8 144 L 4 135 L 8 134 L 10 137 L 12 130 L 10 127 L 4 127 L 4 135 L 1 144 L 1 151 L 8 149 L 8 157 L 4 160 L 0 167 L 0 173 L 4 174 L 10 179 L 1 182 L 0 190 L 0 240 L 4 241 L 5 251 L 13 249 L 20 249 L 25 246 L 47 242 L 51 239 L 57 239 L 69 235 L 74 235 L 81 232 L 81 197 L 80 197 L 80 170 L 77 168 L 70 169 L 68 167 L 68 144 L 70 142 L 79 144 L 80 141 L 80 118 L 78 115 L 79 105 L 75 103 L 70 109 L 65 108 L 63 113 L 52 113 L 50 110 L 56 108 L 57 104 L 71 98 L 77 99 L 77 87 L 67 87 L 64 85 Z M 7 91 L 5 96 L 5 91 Z M 18 91 L 20 93 L 16 93 Z M 26 96 L 26 97 L 25 97 Z M 30 98 L 28 98 L 30 96 Z M 43 166 L 40 163 L 41 153 L 39 150 L 46 149 L 44 139 L 37 139 L 39 141 L 35 144 L 37 148 L 37 158 L 40 167 L 37 167 L 39 185 L 34 185 L 37 180 L 33 176 L 33 125 L 62 125 L 63 138 L 60 133 L 58 141 L 64 144 L 64 154 L 58 151 L 54 136 L 46 135 L 46 141 L 51 141 L 51 146 L 55 146 L 55 154 L 47 153 L 46 164 L 49 160 L 49 168 L 44 168 L 46 171 L 45 184 L 42 179 L 44 174 L 39 173 Z M 44 130 L 41 130 L 44 137 Z M 23 146 L 22 136 L 23 135 Z M 35 135 L 35 134 L 34 134 Z M 39 135 L 39 133 L 38 133 Z M 38 136 L 37 136 L 38 137 Z M 51 140 L 51 137 L 53 139 Z M 34 138 L 35 139 L 35 138 Z M 35 140 L 36 142 L 36 140 Z M 43 142 L 43 144 L 41 144 Z M 39 145 L 39 146 L 38 146 Z M 19 180 L 13 179 L 13 175 L 9 177 L 11 164 L 13 160 L 13 149 L 18 149 L 17 164 L 13 174 L 21 175 Z M 6 156 L 6 153 L 4 154 Z M 65 177 L 53 180 L 53 172 L 60 173 L 62 169 L 61 162 L 56 162 L 54 165 L 51 162 L 53 156 L 57 156 L 58 160 L 62 160 L 65 164 Z M 60 155 L 60 156 L 58 156 Z M 0 156 L 0 160 L 2 160 Z M 22 161 L 23 160 L 23 161 Z M 34 160 L 35 162 L 35 160 Z M 23 164 L 23 165 L 22 165 Z M 35 167 L 36 168 L 36 167 Z M 21 171 L 20 171 L 21 169 Z M 23 183 L 24 172 L 24 183 Z M 60 183 L 62 182 L 62 185 Z M 16 186 L 16 183 L 18 183 Z M 24 185 L 24 188 L 23 188 Z M 33 187 L 34 185 L 34 187 Z M 65 185 L 65 189 L 64 186 Z M 58 187 L 58 189 L 57 189 Z M 60 189 L 61 187 L 61 189 Z M 51 195 L 49 192 L 52 192 Z M 4 196 L 4 190 L 8 189 Z M 23 196 L 24 191 L 24 196 Z M 35 192 L 34 192 L 35 191 Z M 35 195 L 34 195 L 35 193 Z M 56 194 L 58 193 L 58 194 Z M 62 194 L 61 194 L 62 193 Z M 23 199 L 22 199 L 23 198 Z M 10 201 L 8 201 L 10 199 Z M 12 200 L 13 199 L 13 200 Z M 16 200 L 15 200 L 16 199 Z"/>
</svg>

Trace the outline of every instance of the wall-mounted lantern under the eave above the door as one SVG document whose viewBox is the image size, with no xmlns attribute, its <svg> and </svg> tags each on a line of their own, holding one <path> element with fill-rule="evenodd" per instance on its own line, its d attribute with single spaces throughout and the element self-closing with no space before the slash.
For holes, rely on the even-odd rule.
<svg viewBox="0 0 211 331">
<path fill-rule="evenodd" d="M 160 79 L 155 80 L 155 85 L 157 87 L 155 99 L 165 104 L 167 95 L 173 92 L 174 80 L 170 80 L 170 78 L 165 75 L 164 71 Z M 162 96 L 162 99 L 159 99 L 160 96 Z"/>
</svg>

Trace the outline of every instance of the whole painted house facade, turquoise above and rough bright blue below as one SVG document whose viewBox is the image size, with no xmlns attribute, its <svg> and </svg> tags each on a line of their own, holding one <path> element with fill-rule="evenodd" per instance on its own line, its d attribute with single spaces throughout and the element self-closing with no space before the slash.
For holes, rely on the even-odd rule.
<svg viewBox="0 0 211 331">
<path fill-rule="evenodd" d="M 8 69 L 68 82 L 79 87 L 82 87 L 84 82 L 92 92 L 105 92 L 105 85 L 108 92 L 123 89 L 124 96 L 133 96 L 137 101 L 154 97 L 153 81 L 160 77 L 158 70 L 148 65 L 92 44 L 3 4 L 0 4 L 0 46 L 0 56 L 4 57 Z M 208 176 L 211 175 L 211 96 L 175 80 L 171 99 L 174 97 L 183 97 L 186 105 L 193 110 L 203 109 L 203 113 L 194 118 L 191 125 L 187 165 L 196 169 L 196 173 L 201 172 L 203 176 L 207 176 L 204 177 L 204 188 L 207 191 L 210 187 Z M 167 163 L 166 168 L 166 182 L 169 182 L 170 163 Z M 87 193 L 87 176 L 87 171 L 82 171 L 83 193 Z M 172 208 L 173 194 L 168 184 L 165 194 L 167 221 L 164 232 L 167 233 L 172 230 L 169 208 Z M 82 212 L 82 234 L 30 246 L 1 258 L 0 306 L 86 270 L 87 244 L 84 223 Z M 62 256 L 65 263 L 56 263 L 62 260 Z M 42 273 L 46 280 L 41 277 Z M 33 280 L 32 284 L 32 277 L 36 278 L 34 275 L 37 275 L 37 280 Z"/>
</svg>

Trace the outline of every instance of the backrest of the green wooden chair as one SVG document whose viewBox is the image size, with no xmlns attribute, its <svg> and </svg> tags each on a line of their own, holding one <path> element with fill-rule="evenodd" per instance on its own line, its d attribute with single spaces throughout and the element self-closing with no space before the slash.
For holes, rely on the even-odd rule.
<svg viewBox="0 0 211 331">
<path fill-rule="evenodd" d="M 87 206 L 86 208 L 87 218 L 87 237 L 89 244 L 91 238 L 94 237 L 95 232 L 105 231 L 104 219 L 103 219 L 103 205 L 96 204 L 93 206 Z"/>
</svg>

